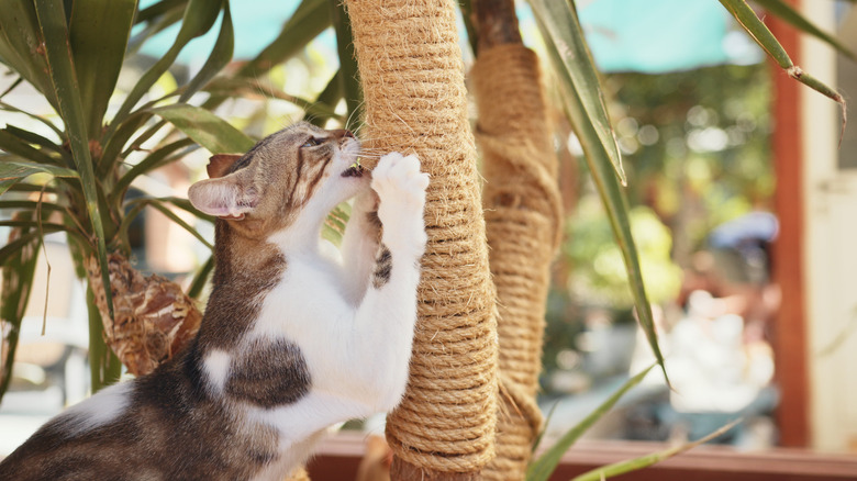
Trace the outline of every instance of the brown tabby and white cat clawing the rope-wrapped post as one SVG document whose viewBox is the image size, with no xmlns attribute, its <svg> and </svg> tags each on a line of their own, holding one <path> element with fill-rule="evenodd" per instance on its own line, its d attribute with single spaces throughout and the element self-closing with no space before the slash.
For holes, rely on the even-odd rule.
<svg viewBox="0 0 857 481">
<path fill-rule="evenodd" d="M 427 174 L 369 174 L 344 130 L 299 123 L 190 187 L 216 216 L 198 335 L 151 374 L 59 414 L 0 462 L 0 480 L 282 480 L 327 428 L 394 409 L 416 320 Z M 320 240 L 355 198 L 341 258 Z M 326 245 L 326 247 L 325 247 Z"/>
</svg>

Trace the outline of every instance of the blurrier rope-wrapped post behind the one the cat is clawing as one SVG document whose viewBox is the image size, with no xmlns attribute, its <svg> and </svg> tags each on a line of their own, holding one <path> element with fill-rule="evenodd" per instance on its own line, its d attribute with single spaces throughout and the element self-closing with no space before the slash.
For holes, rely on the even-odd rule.
<svg viewBox="0 0 857 481">
<path fill-rule="evenodd" d="M 523 480 L 542 425 L 536 392 L 545 303 L 563 225 L 558 163 L 538 58 L 521 42 L 512 0 L 474 4 L 479 31 L 471 70 L 479 114 L 476 138 L 483 156 L 500 340 L 497 457 L 483 478 Z"/>
</svg>

